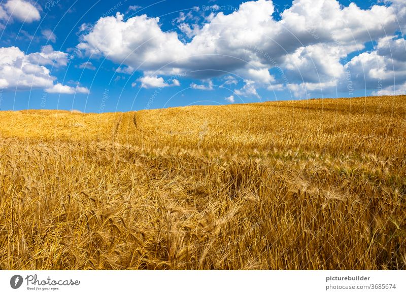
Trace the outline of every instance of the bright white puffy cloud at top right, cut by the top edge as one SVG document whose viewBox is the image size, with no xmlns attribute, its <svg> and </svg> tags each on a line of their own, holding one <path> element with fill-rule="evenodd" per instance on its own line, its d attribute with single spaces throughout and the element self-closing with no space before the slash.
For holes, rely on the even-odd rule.
<svg viewBox="0 0 406 295">
<path fill-rule="evenodd" d="M 282 13 L 282 23 L 301 41 L 309 42 L 317 35 L 343 45 L 367 42 L 398 29 L 391 7 L 374 5 L 362 10 L 354 3 L 342 7 L 335 0 L 296 0 Z"/>
</svg>

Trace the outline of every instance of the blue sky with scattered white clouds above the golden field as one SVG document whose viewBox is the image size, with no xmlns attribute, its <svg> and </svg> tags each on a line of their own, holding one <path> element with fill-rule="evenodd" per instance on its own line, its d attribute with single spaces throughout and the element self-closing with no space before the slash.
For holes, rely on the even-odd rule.
<svg viewBox="0 0 406 295">
<path fill-rule="evenodd" d="M 8 0 L 0 109 L 404 94 L 405 28 L 402 0 Z"/>
</svg>

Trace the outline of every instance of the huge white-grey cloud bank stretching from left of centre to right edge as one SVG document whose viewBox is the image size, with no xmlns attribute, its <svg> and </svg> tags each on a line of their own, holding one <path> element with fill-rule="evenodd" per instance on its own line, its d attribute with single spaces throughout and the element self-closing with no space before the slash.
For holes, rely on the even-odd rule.
<svg viewBox="0 0 406 295">
<path fill-rule="evenodd" d="M 340 88 L 347 71 L 352 73 L 356 68 L 358 76 L 351 74 L 354 87 L 365 88 L 365 83 L 355 81 L 364 73 L 360 66 L 369 67 L 366 79 L 377 79 L 381 74 L 386 79 L 391 61 L 404 61 L 404 41 L 387 38 L 406 27 L 404 1 L 360 9 L 354 3 L 342 6 L 336 0 L 295 0 L 280 20 L 272 17 L 274 11 L 272 1 L 249 1 L 227 15 L 213 11 L 206 18 L 208 23 L 200 26 L 194 26 L 193 14 L 181 13 L 174 25 L 191 38 L 189 42 L 182 42 L 175 31 L 163 31 L 158 17 L 144 14 L 124 20 L 117 13 L 92 25 L 77 48 L 144 74 L 173 75 L 176 70 L 204 80 L 238 72 L 245 85 L 236 91 L 258 98 L 258 87 L 281 90 L 290 85 L 288 89 L 297 95 L 322 87 Z M 366 42 L 378 40 L 376 52 L 357 54 Z M 396 48 L 392 57 L 386 52 L 389 46 Z M 356 53 L 355 57 L 343 64 L 351 53 Z M 370 63 L 377 58 L 384 69 Z M 397 67 L 392 73 L 402 77 L 402 65 Z M 285 79 L 271 75 L 272 68 L 279 68 Z M 159 78 L 154 81 L 163 85 Z M 374 89 L 373 84 L 367 85 Z"/>
</svg>

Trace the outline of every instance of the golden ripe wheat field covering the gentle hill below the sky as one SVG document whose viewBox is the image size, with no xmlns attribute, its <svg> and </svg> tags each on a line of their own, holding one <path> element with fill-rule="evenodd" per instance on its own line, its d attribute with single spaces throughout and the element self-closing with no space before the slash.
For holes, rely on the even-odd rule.
<svg viewBox="0 0 406 295">
<path fill-rule="evenodd" d="M 0 112 L 0 268 L 404 270 L 405 105 Z"/>
</svg>

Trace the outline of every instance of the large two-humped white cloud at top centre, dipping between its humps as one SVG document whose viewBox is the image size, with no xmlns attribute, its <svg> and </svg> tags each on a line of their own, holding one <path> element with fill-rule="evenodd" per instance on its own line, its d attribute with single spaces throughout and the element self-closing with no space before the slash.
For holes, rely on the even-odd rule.
<svg viewBox="0 0 406 295">
<path fill-rule="evenodd" d="M 107 56 L 117 63 L 144 71 L 173 67 L 195 77 L 219 76 L 218 70 L 232 71 L 247 65 L 252 53 L 241 48 L 241 44 L 263 38 L 259 32 L 256 38 L 255 32 L 272 22 L 272 12 L 272 3 L 264 0 L 244 3 L 240 11 L 227 16 L 220 12 L 187 44 L 179 40 L 176 32 L 163 32 L 159 18 L 141 15 L 124 21 L 123 16 L 117 14 L 116 17 L 100 18 L 83 36 L 78 48 L 87 54 Z M 241 29 L 244 25 L 247 28 Z M 219 38 L 221 34 L 224 36 Z M 234 51 L 235 46 L 240 49 Z M 194 69 L 210 70 L 191 72 Z"/>
</svg>

